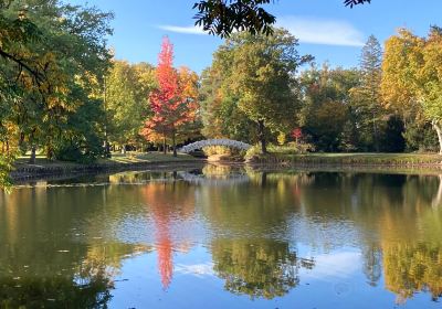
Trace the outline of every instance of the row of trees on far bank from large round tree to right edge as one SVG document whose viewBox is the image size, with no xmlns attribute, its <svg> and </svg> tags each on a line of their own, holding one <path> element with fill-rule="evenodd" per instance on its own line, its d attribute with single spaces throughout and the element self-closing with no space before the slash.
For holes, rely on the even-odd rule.
<svg viewBox="0 0 442 309">
<path fill-rule="evenodd" d="M 290 51 L 276 52 L 284 38 Z M 233 34 L 201 75 L 203 134 L 253 142 L 262 140 L 262 120 L 267 141 L 296 140 L 315 151 L 442 149 L 441 43 L 436 26 L 428 38 L 402 29 L 385 51 L 371 35 L 359 67 L 333 68 L 308 56 L 293 62 L 297 41 L 284 30 Z"/>
</svg>

